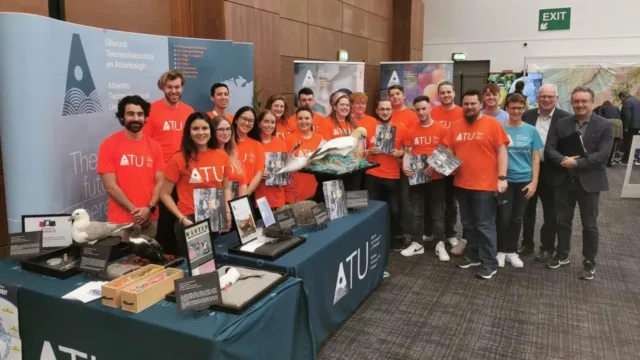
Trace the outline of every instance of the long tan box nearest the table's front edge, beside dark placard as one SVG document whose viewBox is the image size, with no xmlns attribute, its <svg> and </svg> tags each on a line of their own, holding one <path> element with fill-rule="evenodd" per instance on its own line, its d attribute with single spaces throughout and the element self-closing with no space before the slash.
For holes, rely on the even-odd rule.
<svg viewBox="0 0 640 360">
<path fill-rule="evenodd" d="M 122 290 L 120 297 L 122 310 L 139 313 L 160 300 L 164 300 L 167 294 L 175 291 L 174 281 L 183 277 L 184 271 L 174 268 L 167 268 L 159 273 L 145 276 Z"/>
</svg>

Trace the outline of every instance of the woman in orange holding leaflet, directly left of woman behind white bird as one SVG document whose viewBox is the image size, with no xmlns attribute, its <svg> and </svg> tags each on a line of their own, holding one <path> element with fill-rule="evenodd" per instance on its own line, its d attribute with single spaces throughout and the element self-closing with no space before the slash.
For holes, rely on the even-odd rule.
<svg viewBox="0 0 640 360">
<path fill-rule="evenodd" d="M 284 187 L 286 184 L 267 185 L 267 181 L 287 180 L 286 175 L 275 174 L 277 170 L 284 166 L 288 154 L 287 143 L 276 135 L 276 123 L 276 115 L 271 110 L 264 110 L 258 115 L 258 126 L 255 126 L 249 133 L 252 139 L 261 140 L 265 154 L 265 171 L 262 173 L 263 180 L 260 182 L 258 189 L 256 189 L 256 200 L 265 197 L 272 209 L 285 205 Z M 277 155 L 280 158 L 270 160 Z M 280 164 L 276 164 L 277 162 L 280 162 Z"/>
</svg>

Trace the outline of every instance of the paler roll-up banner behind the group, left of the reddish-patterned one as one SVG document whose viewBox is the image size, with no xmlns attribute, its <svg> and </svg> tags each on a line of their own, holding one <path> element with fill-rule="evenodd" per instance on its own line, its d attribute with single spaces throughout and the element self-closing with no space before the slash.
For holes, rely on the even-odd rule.
<svg viewBox="0 0 640 360">
<path fill-rule="evenodd" d="M 313 90 L 316 100 L 312 110 L 328 116 L 331 94 L 340 90 L 364 92 L 364 63 L 296 60 L 293 62 L 293 83 L 296 106 L 298 91 L 306 87 Z"/>
</svg>

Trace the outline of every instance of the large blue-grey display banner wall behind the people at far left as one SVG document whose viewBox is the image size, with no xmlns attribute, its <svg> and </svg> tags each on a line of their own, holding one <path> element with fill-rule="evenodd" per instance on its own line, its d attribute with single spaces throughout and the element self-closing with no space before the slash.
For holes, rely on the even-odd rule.
<svg viewBox="0 0 640 360">
<path fill-rule="evenodd" d="M 28 31 L 25 31 L 28 29 Z M 162 98 L 160 75 L 187 78 L 183 100 L 211 110 L 210 88 L 229 85 L 232 107 L 251 104 L 253 45 L 143 35 L 37 15 L 0 13 L 0 136 L 9 232 L 21 216 L 85 208 L 104 220 L 97 150 L 122 129 L 118 101 Z M 233 112 L 235 108 L 228 111 Z"/>
</svg>

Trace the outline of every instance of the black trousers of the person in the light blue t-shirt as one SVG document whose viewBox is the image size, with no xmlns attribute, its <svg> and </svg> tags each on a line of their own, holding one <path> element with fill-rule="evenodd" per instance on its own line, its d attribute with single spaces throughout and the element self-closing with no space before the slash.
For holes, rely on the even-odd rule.
<svg viewBox="0 0 640 360">
<path fill-rule="evenodd" d="M 504 194 L 506 202 L 498 206 L 498 251 L 514 253 L 518 250 L 522 218 L 527 209 L 526 191 L 529 183 L 509 183 Z"/>
</svg>

